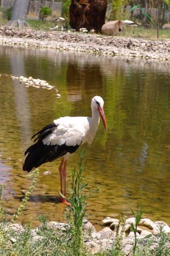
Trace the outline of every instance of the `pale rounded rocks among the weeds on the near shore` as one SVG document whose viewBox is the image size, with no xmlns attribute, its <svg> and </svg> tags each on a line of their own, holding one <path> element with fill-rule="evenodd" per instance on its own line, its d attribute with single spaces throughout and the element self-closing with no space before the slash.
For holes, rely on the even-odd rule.
<svg viewBox="0 0 170 256">
<path fill-rule="evenodd" d="M 87 249 L 90 253 L 95 254 L 99 251 L 107 251 L 111 249 L 114 245 L 117 233 L 122 233 L 122 250 L 125 255 L 131 255 L 132 247 L 135 241 L 134 232 L 131 230 L 131 223 L 135 226 L 135 218 L 127 218 L 125 220 L 124 226 L 119 223 L 119 220 L 116 218 L 106 217 L 101 221 L 101 226 L 104 226 L 101 231 L 97 232 L 94 226 L 88 221 L 84 220 L 84 242 Z M 117 230 L 117 226 L 119 225 L 119 231 Z M 138 238 L 138 245 L 144 242 L 144 245 L 151 242 L 150 249 L 155 250 L 156 246 L 159 242 L 159 233 L 160 226 L 165 234 L 170 234 L 169 226 L 163 221 L 153 222 L 148 218 L 142 218 L 139 222 L 139 226 L 137 228 L 136 237 Z M 11 241 L 13 243 L 16 242 L 16 238 L 20 233 L 24 232 L 24 228 L 20 224 L 10 224 L 6 226 L 6 229 L 13 229 L 15 233 L 15 238 L 11 237 Z M 39 230 L 42 228 L 42 225 L 38 226 L 35 229 L 31 229 L 32 240 L 31 243 L 38 242 L 42 240 L 44 237 L 39 234 Z M 66 232 L 69 229 L 69 225 L 65 223 L 50 221 L 47 222 L 47 228 L 52 229 L 56 232 L 58 236 L 62 236 L 62 232 Z M 170 243 L 166 243 L 168 248 L 170 248 Z M 123 254 L 124 255 L 124 254 Z"/>
</svg>

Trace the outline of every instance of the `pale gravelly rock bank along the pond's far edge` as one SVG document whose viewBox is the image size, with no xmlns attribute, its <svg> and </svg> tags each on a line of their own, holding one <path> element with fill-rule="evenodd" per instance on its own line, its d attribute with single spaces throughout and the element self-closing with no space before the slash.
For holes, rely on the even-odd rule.
<svg viewBox="0 0 170 256">
<path fill-rule="evenodd" d="M 78 32 L 1 27 L 0 45 L 170 61 L 170 40 L 145 40 Z"/>
</svg>

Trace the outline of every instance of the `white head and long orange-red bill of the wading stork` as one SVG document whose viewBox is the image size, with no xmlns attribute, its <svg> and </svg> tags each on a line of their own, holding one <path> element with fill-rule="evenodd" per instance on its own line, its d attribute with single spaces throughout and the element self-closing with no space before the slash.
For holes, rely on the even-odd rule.
<svg viewBox="0 0 170 256">
<path fill-rule="evenodd" d="M 107 131 L 107 123 L 106 123 L 106 118 L 105 118 L 105 112 L 103 109 L 104 106 L 104 101 L 101 97 L 99 96 L 94 96 L 92 98 L 92 104 L 91 104 L 92 108 L 96 108 L 101 119 L 103 122 L 103 126 L 105 127 L 105 130 Z"/>
</svg>

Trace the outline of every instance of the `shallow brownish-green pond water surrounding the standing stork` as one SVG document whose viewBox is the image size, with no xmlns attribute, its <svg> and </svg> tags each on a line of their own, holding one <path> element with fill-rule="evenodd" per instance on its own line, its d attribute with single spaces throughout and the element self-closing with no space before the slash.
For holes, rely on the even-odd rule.
<svg viewBox="0 0 170 256">
<path fill-rule="evenodd" d="M 0 182 L 4 184 L 3 207 L 13 214 L 31 180 L 22 171 L 24 151 L 36 131 L 65 115 L 90 115 L 90 101 L 105 100 L 107 133 L 102 123 L 91 146 L 78 148 L 68 161 L 71 173 L 82 148 L 87 160 L 84 181 L 101 189 L 88 200 L 93 224 L 106 216 L 131 215 L 170 224 L 170 65 L 165 62 L 94 56 L 84 53 L 0 47 Z M 9 76 L 32 76 L 55 90 L 27 88 Z M 40 167 L 34 193 L 19 220 L 39 213 L 49 220 L 64 221 L 59 196 L 60 159 Z M 44 176 L 44 171 L 51 175 Z"/>
</svg>

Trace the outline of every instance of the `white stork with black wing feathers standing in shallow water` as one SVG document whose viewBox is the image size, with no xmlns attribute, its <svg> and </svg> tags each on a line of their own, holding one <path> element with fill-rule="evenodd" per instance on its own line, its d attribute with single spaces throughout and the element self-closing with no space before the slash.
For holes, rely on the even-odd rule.
<svg viewBox="0 0 170 256">
<path fill-rule="evenodd" d="M 25 155 L 28 155 L 23 165 L 23 171 L 30 172 L 43 163 L 63 157 L 59 166 L 60 192 L 66 196 L 66 166 L 69 155 L 75 152 L 81 144 L 92 143 L 100 117 L 107 131 L 103 105 L 103 99 L 95 96 L 91 102 L 92 117 L 60 117 L 38 131 L 32 137 L 38 135 L 34 141 L 36 143 L 28 147 L 25 152 Z M 59 200 L 67 204 L 67 200 L 63 197 L 60 196 Z"/>
</svg>

